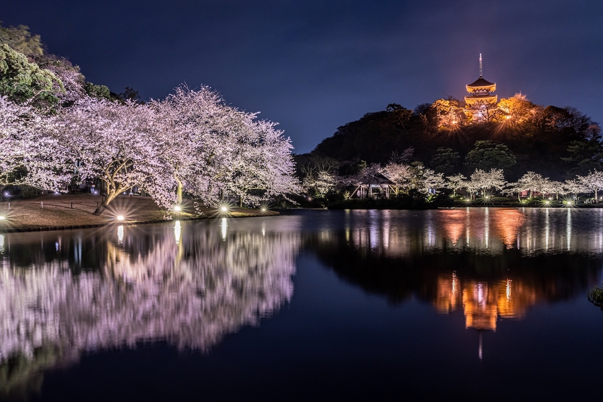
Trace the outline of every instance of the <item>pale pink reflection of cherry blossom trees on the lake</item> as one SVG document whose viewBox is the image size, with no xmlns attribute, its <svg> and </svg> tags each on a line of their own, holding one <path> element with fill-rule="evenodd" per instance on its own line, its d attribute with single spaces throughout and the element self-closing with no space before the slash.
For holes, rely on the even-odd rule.
<svg viewBox="0 0 603 402">
<path fill-rule="evenodd" d="M 291 298 L 295 232 L 239 222 L 237 230 L 204 223 L 148 228 L 96 236 L 104 254 L 79 274 L 68 258 L 47 255 L 17 266 L 12 252 L 25 246 L 10 244 L 0 265 L 4 393 L 41 384 L 41 369 L 77 360 L 82 351 L 156 340 L 207 350 Z M 60 236 L 65 246 L 74 241 L 68 253 L 81 259 L 77 243 L 87 240 Z"/>
</svg>

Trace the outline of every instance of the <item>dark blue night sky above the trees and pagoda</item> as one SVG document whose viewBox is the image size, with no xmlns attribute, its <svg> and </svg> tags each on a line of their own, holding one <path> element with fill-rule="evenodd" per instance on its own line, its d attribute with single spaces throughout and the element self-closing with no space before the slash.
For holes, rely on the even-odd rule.
<svg viewBox="0 0 603 402">
<path fill-rule="evenodd" d="M 209 85 L 280 122 L 297 153 L 391 102 L 461 98 L 480 52 L 499 96 L 603 121 L 600 0 L 4 0 L 0 20 L 113 92 Z"/>
</svg>

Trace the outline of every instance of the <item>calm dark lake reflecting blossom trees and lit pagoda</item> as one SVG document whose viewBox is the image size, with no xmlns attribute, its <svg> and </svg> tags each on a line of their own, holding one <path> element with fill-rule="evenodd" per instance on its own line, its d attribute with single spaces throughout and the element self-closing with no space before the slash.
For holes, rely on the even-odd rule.
<svg viewBox="0 0 603 402">
<path fill-rule="evenodd" d="M 601 397 L 603 209 L 0 236 L 0 400 Z"/>
</svg>

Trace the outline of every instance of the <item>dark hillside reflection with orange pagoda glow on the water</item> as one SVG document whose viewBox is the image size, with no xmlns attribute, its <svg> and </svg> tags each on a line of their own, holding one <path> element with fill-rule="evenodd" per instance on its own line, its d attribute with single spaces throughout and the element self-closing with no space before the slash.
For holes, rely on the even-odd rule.
<svg viewBox="0 0 603 402">
<path fill-rule="evenodd" d="M 466 306 L 468 326 L 494 328 L 491 318 L 482 319 L 523 316 L 534 303 L 566 299 L 594 283 L 601 225 L 603 210 L 350 211 L 343 233 L 305 240 L 340 277 L 369 292 L 394 303 L 417 295 L 438 310 L 440 303 Z M 452 297 L 446 288 L 444 297 L 439 278 L 452 272 L 459 289 Z M 507 280 L 515 295 L 508 303 Z"/>
</svg>

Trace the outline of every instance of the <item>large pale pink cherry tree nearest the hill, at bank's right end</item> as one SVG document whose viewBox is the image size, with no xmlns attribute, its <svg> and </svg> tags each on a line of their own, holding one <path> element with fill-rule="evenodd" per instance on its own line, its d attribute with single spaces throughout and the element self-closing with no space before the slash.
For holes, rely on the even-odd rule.
<svg viewBox="0 0 603 402">
<path fill-rule="evenodd" d="M 163 139 L 170 149 L 162 154 L 169 176 L 162 185 L 167 184 L 175 197 L 165 192 L 166 206 L 180 203 L 183 191 L 206 205 L 217 205 L 225 193 L 234 193 L 242 206 L 299 190 L 291 140 L 274 128 L 275 123 L 226 105 L 209 87 L 179 87 L 150 107 L 165 125 Z M 252 189 L 264 194 L 251 195 Z"/>
</svg>

